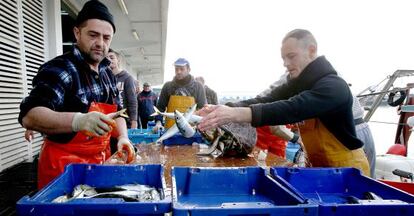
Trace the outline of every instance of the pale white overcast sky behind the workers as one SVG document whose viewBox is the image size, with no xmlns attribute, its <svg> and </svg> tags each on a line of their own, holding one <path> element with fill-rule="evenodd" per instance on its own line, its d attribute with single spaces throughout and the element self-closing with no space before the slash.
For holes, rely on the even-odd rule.
<svg viewBox="0 0 414 216">
<path fill-rule="evenodd" d="M 164 80 L 173 62 L 223 95 L 256 95 L 286 69 L 281 40 L 307 29 L 359 93 L 398 69 L 414 69 L 410 0 L 170 0 Z"/>
</svg>

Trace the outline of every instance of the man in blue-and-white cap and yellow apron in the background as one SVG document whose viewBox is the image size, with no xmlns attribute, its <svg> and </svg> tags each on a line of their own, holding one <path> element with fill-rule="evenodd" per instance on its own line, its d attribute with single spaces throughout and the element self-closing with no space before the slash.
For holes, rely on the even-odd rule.
<svg viewBox="0 0 414 216">
<path fill-rule="evenodd" d="M 198 109 L 202 108 L 207 103 L 205 90 L 203 85 L 190 75 L 190 63 L 184 58 L 179 58 L 174 62 L 174 67 L 175 77 L 162 87 L 157 108 L 161 112 L 166 109 L 167 112 L 174 112 L 174 110 L 185 112 L 195 103 Z M 162 127 L 162 116 L 157 116 L 155 120 L 156 125 L 153 130 L 157 132 Z M 165 128 L 173 124 L 174 120 L 166 119 Z"/>
</svg>

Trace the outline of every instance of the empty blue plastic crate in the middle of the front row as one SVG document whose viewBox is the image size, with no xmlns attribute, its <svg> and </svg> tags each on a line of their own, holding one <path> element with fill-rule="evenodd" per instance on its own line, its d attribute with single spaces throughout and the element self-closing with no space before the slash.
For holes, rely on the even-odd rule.
<svg viewBox="0 0 414 216">
<path fill-rule="evenodd" d="M 317 215 L 260 167 L 173 167 L 172 182 L 173 215 Z"/>
</svg>

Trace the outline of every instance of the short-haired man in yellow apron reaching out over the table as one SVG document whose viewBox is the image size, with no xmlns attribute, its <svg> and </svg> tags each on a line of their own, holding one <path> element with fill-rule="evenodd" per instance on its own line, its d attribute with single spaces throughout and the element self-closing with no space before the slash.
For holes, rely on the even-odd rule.
<svg viewBox="0 0 414 216">
<path fill-rule="evenodd" d="M 198 114 L 200 130 L 227 122 L 251 122 L 255 127 L 300 122 L 308 158 L 314 167 L 355 167 L 369 176 L 369 164 L 356 137 L 352 94 L 324 56 L 317 55 L 313 35 L 304 29 L 289 32 L 282 41 L 288 81 L 268 96 L 233 104 L 210 106 Z"/>
</svg>

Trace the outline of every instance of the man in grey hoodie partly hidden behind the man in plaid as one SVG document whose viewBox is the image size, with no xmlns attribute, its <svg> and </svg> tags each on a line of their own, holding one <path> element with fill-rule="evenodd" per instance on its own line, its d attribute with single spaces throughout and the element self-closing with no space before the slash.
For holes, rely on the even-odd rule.
<svg viewBox="0 0 414 216">
<path fill-rule="evenodd" d="M 116 78 L 116 87 L 119 91 L 121 106 L 127 109 L 129 119 L 128 128 L 137 128 L 137 109 L 138 102 L 135 94 L 134 78 L 126 71 L 121 69 L 121 55 L 109 49 L 108 59 L 111 60 L 111 70 Z"/>
</svg>

